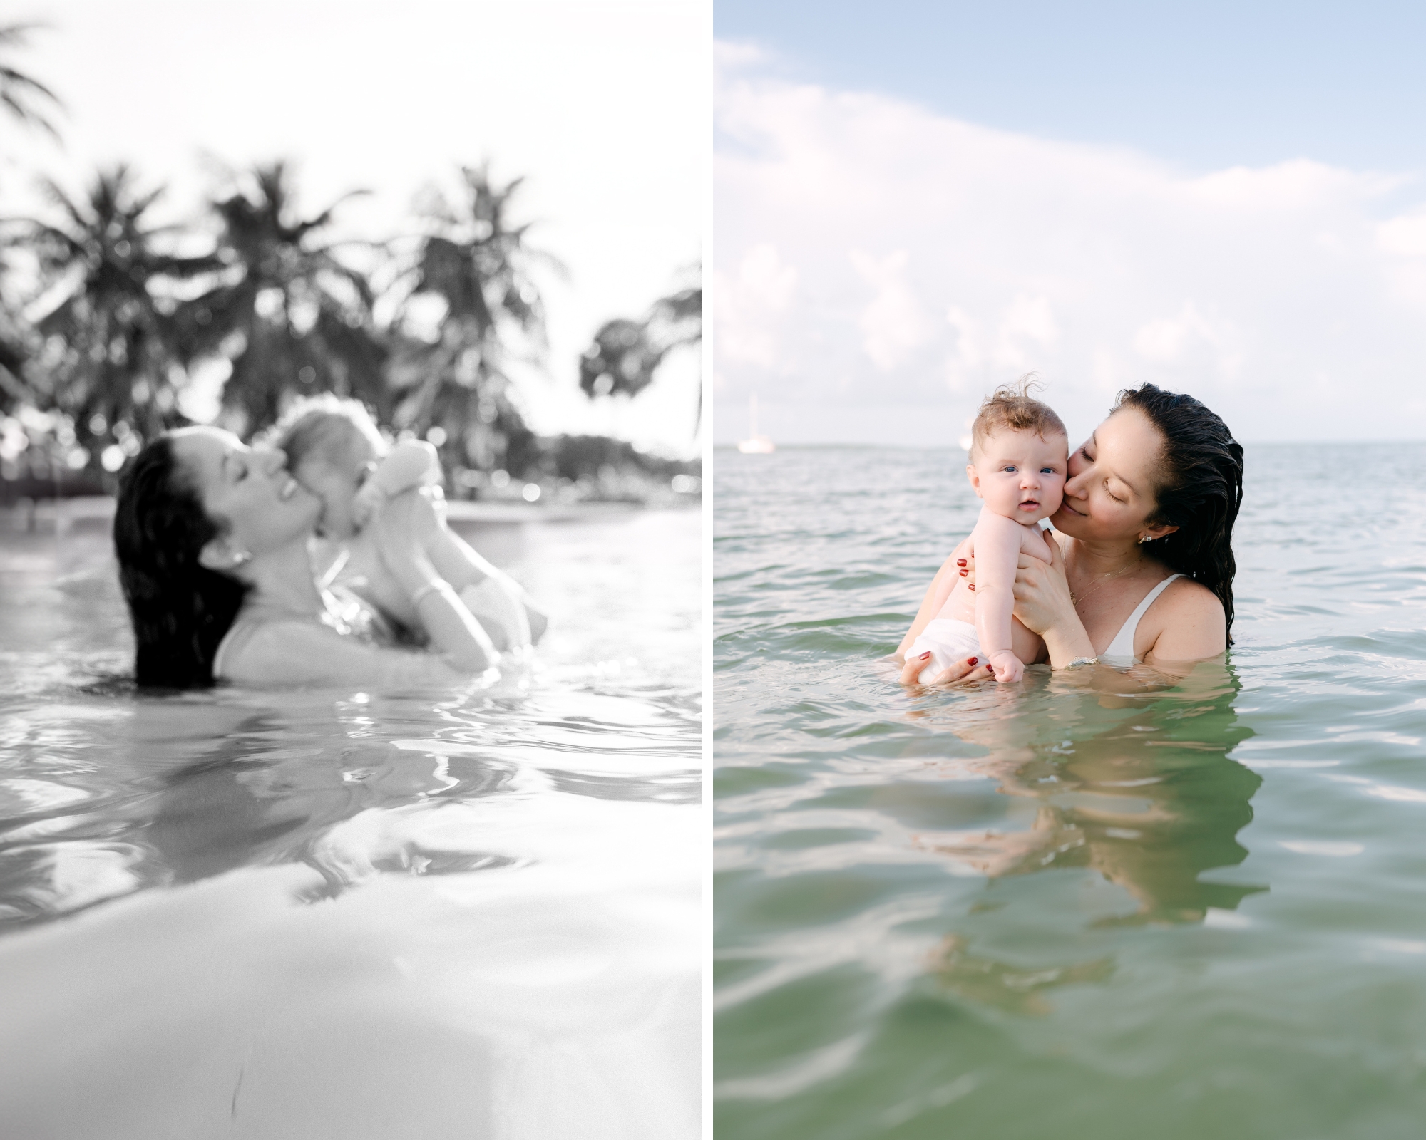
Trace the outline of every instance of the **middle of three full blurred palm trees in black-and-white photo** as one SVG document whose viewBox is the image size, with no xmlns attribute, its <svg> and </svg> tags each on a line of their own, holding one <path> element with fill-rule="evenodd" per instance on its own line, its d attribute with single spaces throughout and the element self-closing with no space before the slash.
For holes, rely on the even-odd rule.
<svg viewBox="0 0 1426 1140">
<path fill-rule="evenodd" d="M 368 276 L 328 237 L 337 208 L 315 217 L 294 205 L 285 162 L 260 165 L 211 202 L 220 222 L 215 284 L 183 309 L 185 359 L 231 365 L 222 403 L 240 432 L 272 423 L 289 393 L 337 392 L 389 412 L 386 348 L 372 322 Z"/>
</svg>

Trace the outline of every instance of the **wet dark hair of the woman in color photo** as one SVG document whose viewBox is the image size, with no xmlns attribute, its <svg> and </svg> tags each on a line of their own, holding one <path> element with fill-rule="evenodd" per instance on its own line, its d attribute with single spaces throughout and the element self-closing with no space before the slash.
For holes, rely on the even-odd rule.
<svg viewBox="0 0 1426 1140">
<path fill-rule="evenodd" d="M 1233 643 L 1233 522 L 1243 500 L 1243 449 L 1208 408 L 1152 383 L 1119 393 L 1114 410 L 1135 408 L 1164 436 L 1159 456 L 1158 507 L 1152 524 L 1176 526 L 1172 534 L 1145 543 L 1171 570 L 1186 574 L 1218 594 Z"/>
</svg>

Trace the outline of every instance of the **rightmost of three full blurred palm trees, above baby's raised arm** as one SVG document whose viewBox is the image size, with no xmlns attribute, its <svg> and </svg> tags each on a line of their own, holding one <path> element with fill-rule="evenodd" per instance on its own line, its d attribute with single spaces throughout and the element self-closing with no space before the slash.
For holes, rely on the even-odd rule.
<svg viewBox="0 0 1426 1140">
<path fill-rule="evenodd" d="M 529 245 L 528 224 L 511 224 L 523 180 L 499 185 L 489 162 L 461 175 L 458 200 L 434 191 L 422 209 L 429 232 L 396 318 L 395 423 L 418 433 L 439 429 L 448 462 L 519 472 L 533 459 L 535 436 L 511 398 L 509 368 L 543 362 L 549 342 L 536 276 L 540 268 L 562 274 L 563 265 Z M 434 335 L 421 336 L 412 314 L 429 302 Z"/>
</svg>

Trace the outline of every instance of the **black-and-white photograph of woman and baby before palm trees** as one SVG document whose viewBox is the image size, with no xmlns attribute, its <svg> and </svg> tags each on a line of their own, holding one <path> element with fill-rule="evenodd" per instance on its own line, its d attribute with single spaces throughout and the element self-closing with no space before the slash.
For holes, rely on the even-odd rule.
<svg viewBox="0 0 1426 1140">
<path fill-rule="evenodd" d="M 0 1134 L 702 1127 L 710 13 L 0 9 Z"/>
</svg>

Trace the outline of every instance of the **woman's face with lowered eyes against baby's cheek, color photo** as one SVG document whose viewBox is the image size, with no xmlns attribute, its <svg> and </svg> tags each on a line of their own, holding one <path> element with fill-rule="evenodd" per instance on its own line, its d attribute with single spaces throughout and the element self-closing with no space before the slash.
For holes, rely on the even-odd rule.
<svg viewBox="0 0 1426 1140">
<path fill-rule="evenodd" d="M 1051 516 L 1055 530 L 1075 539 L 1138 539 L 1158 507 L 1154 477 L 1164 437 L 1135 408 L 1101 423 L 1070 453 L 1065 497 Z"/>
</svg>

